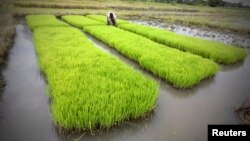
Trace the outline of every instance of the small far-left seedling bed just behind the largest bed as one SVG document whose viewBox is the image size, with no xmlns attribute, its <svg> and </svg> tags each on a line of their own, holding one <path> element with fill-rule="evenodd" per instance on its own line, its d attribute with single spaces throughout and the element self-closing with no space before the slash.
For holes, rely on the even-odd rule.
<svg viewBox="0 0 250 141">
<path fill-rule="evenodd" d="M 25 19 L 28 26 L 32 30 L 38 27 L 68 26 L 66 23 L 56 19 L 53 15 L 28 15 Z"/>
</svg>

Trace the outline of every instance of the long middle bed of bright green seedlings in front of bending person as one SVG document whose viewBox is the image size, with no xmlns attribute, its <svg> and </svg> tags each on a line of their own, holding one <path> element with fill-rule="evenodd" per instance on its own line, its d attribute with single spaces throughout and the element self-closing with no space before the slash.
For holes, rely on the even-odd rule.
<svg viewBox="0 0 250 141">
<path fill-rule="evenodd" d="M 211 60 L 113 26 L 85 26 L 83 29 L 177 88 L 192 87 L 219 70 Z"/>
</svg>

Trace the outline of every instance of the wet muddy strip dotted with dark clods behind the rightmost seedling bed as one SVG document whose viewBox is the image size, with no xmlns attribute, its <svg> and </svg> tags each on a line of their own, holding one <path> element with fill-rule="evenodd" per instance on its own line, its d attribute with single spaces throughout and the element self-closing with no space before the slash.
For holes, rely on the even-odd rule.
<svg viewBox="0 0 250 141">
<path fill-rule="evenodd" d="M 192 28 L 177 24 L 163 24 L 152 21 L 131 21 L 131 22 L 168 29 L 178 34 L 194 36 L 207 40 L 219 41 L 226 44 L 236 45 L 245 48 L 248 50 L 248 52 L 250 52 L 250 37 L 247 35 L 237 35 L 235 33 L 224 33 L 214 30 Z"/>
</svg>

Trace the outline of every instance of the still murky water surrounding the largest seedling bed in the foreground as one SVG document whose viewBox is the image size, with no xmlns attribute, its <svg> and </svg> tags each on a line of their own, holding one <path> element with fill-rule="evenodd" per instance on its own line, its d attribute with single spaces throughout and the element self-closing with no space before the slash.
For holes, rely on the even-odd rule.
<svg viewBox="0 0 250 141">
<path fill-rule="evenodd" d="M 41 75 L 27 26 L 16 26 L 16 37 L 3 70 L 6 87 L 0 95 L 0 140 L 201 141 L 208 124 L 238 124 L 234 109 L 250 97 L 250 57 L 221 66 L 215 77 L 189 90 L 177 90 L 144 71 L 137 63 L 87 35 L 96 47 L 160 82 L 157 107 L 146 119 L 86 134 L 59 134 L 51 120 L 46 82 Z"/>
</svg>

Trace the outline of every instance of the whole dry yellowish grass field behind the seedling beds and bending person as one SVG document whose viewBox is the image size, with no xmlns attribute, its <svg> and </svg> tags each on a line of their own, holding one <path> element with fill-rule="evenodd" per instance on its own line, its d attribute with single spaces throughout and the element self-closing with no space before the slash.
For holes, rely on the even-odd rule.
<svg viewBox="0 0 250 141">
<path fill-rule="evenodd" d="M 105 14 L 108 10 L 112 10 L 118 17 L 130 20 L 157 20 L 167 24 L 174 22 L 216 28 L 223 31 L 230 30 L 241 34 L 250 33 L 248 26 L 249 8 L 207 7 L 120 0 L 16 0 L 12 2 L 9 8 L 5 6 L 3 8 L 17 16 L 27 14 Z"/>
</svg>

